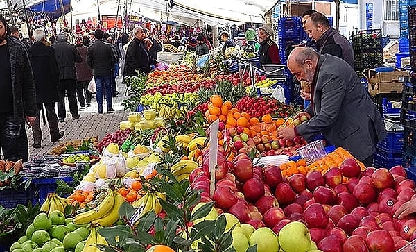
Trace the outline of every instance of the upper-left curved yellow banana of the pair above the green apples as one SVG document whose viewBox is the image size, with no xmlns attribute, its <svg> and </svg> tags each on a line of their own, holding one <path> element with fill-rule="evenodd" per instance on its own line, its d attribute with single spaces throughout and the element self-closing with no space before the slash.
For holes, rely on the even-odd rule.
<svg viewBox="0 0 416 252">
<path fill-rule="evenodd" d="M 75 218 L 73 218 L 73 223 L 78 225 L 87 224 L 105 216 L 114 206 L 114 201 L 114 191 L 110 190 L 107 196 L 105 196 L 105 199 L 103 199 L 96 208 L 76 215 Z"/>
</svg>

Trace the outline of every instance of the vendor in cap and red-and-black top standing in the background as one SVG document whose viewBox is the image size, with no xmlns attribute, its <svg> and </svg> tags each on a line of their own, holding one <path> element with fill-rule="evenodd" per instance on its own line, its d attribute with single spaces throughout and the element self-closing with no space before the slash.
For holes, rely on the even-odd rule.
<svg viewBox="0 0 416 252">
<path fill-rule="evenodd" d="M 270 38 L 272 34 L 272 28 L 269 26 L 261 26 L 259 28 L 259 57 L 260 65 L 265 64 L 280 64 L 279 47 Z"/>
</svg>

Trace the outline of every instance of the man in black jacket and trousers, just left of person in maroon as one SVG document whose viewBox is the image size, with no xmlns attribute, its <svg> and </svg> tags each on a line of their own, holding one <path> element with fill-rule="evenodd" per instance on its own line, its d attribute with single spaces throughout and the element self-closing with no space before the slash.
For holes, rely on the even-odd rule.
<svg viewBox="0 0 416 252">
<path fill-rule="evenodd" d="M 75 63 L 83 61 L 80 53 L 75 49 L 73 44 L 67 41 L 67 33 L 60 33 L 58 40 L 52 44 L 55 49 L 56 61 L 59 67 L 59 84 L 58 84 L 58 117 L 60 122 L 65 121 L 67 111 L 65 110 L 65 92 L 67 92 L 69 112 L 72 119 L 80 118 L 78 114 L 78 104 L 76 103 L 76 71 Z"/>
</svg>

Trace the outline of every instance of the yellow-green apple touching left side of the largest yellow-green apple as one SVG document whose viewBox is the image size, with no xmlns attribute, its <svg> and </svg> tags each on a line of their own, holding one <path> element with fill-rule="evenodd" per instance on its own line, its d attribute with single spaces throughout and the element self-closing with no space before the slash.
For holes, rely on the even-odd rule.
<svg viewBox="0 0 416 252">
<path fill-rule="evenodd" d="M 280 249 L 277 235 L 266 227 L 255 230 L 250 236 L 249 244 L 257 244 L 257 252 L 278 252 Z"/>
</svg>

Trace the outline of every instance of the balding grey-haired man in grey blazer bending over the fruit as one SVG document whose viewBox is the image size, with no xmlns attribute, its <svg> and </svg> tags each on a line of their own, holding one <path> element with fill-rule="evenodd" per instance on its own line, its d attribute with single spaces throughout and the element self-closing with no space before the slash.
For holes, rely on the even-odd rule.
<svg viewBox="0 0 416 252">
<path fill-rule="evenodd" d="M 311 86 L 311 103 L 297 115 L 309 121 L 277 132 L 283 139 L 302 135 L 310 141 L 323 133 L 336 146 L 343 146 L 364 165 L 372 166 L 375 145 L 383 140 L 385 126 L 360 79 L 347 62 L 313 49 L 297 47 L 288 57 L 288 69 Z M 342 69 L 342 71 L 340 71 Z"/>
</svg>

